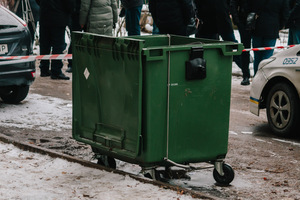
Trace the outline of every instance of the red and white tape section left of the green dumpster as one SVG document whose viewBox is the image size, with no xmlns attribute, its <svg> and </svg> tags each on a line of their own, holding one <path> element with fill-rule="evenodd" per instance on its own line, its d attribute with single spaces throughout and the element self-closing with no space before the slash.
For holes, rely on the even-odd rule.
<svg viewBox="0 0 300 200">
<path fill-rule="evenodd" d="M 0 56 L 0 60 L 63 60 L 72 59 L 72 54 L 53 54 L 53 55 L 39 55 L 39 56 Z"/>
</svg>

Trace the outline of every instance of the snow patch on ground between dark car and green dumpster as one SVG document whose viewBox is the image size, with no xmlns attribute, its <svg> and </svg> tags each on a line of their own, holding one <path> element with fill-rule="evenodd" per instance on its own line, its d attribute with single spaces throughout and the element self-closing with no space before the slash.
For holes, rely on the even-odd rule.
<svg viewBox="0 0 300 200">
<path fill-rule="evenodd" d="M 43 131 L 72 129 L 71 101 L 29 93 L 22 104 L 0 103 L 1 126 Z"/>
</svg>

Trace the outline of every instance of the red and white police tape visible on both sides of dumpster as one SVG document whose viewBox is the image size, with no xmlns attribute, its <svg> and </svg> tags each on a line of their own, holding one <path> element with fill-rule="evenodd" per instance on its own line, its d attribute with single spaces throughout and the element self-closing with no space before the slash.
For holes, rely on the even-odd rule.
<svg viewBox="0 0 300 200">
<path fill-rule="evenodd" d="M 267 51 L 273 49 L 286 49 L 294 47 L 296 45 L 287 45 L 287 46 L 276 46 L 276 47 L 259 47 L 252 49 L 243 49 L 243 52 L 247 51 Z M 52 54 L 52 55 L 30 55 L 30 56 L 0 56 L 0 60 L 71 60 L 72 54 Z"/>
</svg>

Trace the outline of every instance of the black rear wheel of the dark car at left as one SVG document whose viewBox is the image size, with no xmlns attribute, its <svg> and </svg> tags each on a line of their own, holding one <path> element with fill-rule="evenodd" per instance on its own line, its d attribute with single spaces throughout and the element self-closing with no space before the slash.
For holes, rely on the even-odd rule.
<svg viewBox="0 0 300 200">
<path fill-rule="evenodd" d="M 23 101 L 29 92 L 29 85 L 14 86 L 8 92 L 1 94 L 4 103 L 17 104 Z"/>
</svg>

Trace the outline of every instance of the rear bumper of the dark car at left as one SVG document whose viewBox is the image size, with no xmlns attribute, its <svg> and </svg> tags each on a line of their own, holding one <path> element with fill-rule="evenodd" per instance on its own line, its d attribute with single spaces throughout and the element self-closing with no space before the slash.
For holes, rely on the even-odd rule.
<svg viewBox="0 0 300 200">
<path fill-rule="evenodd" d="M 0 61 L 0 87 L 31 85 L 35 79 L 35 60 Z"/>
</svg>

